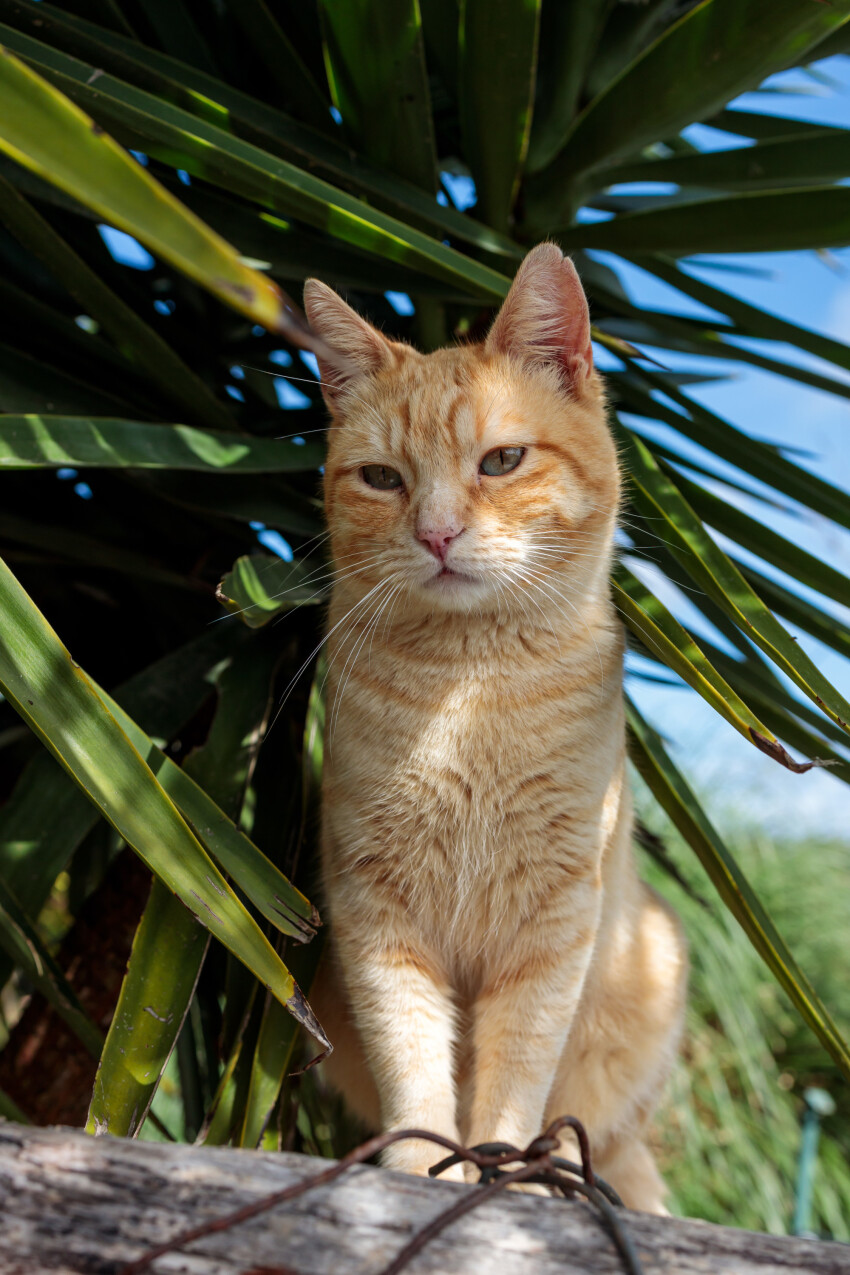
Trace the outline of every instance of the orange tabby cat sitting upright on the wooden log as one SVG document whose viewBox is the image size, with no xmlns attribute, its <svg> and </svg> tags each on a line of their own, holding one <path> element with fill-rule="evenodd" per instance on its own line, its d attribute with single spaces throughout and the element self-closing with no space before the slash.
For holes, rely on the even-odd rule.
<svg viewBox="0 0 850 1275">
<path fill-rule="evenodd" d="M 663 1213 L 646 1139 L 687 955 L 631 844 L 621 483 L 579 275 L 539 245 L 483 344 L 429 354 L 317 279 L 305 307 L 344 356 L 320 361 L 328 1077 L 372 1128 L 468 1145 L 579 1116 L 598 1172 Z"/>
</svg>

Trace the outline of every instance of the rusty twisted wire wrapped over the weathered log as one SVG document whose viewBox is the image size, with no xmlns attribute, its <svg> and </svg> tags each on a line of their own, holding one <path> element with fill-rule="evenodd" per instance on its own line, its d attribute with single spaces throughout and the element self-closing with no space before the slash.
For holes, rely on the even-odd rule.
<svg viewBox="0 0 850 1275">
<path fill-rule="evenodd" d="M 559 1146 L 557 1135 L 563 1128 L 571 1128 L 575 1132 L 579 1141 L 581 1164 L 573 1164 L 571 1160 L 565 1160 L 562 1156 L 554 1154 Z M 245 1205 L 242 1209 L 237 1209 L 224 1218 L 215 1218 L 212 1221 L 201 1223 L 199 1227 L 192 1227 L 190 1230 L 181 1232 L 173 1239 L 150 1248 L 143 1257 L 129 1262 L 121 1269 L 120 1275 L 140 1275 L 141 1271 L 149 1270 L 158 1257 L 163 1257 L 166 1253 L 175 1252 L 178 1248 L 185 1248 L 186 1244 L 190 1244 L 195 1239 L 203 1239 L 206 1235 L 229 1230 L 232 1227 L 249 1221 L 249 1219 L 256 1218 L 261 1213 L 268 1213 L 275 1205 L 285 1204 L 289 1200 L 296 1200 L 298 1196 L 306 1195 L 307 1191 L 312 1191 L 315 1187 L 326 1186 L 354 1164 L 363 1164 L 364 1160 L 370 1160 L 394 1142 L 401 1142 L 408 1139 L 432 1142 L 435 1146 L 442 1146 L 450 1153 L 438 1164 L 428 1169 L 429 1177 L 436 1178 L 455 1164 L 468 1163 L 479 1170 L 480 1190 L 464 1193 L 456 1204 L 429 1221 L 427 1227 L 423 1227 L 395 1255 L 390 1265 L 380 1271 L 380 1275 L 399 1275 L 399 1271 L 408 1265 L 410 1258 L 424 1248 L 445 1227 L 449 1227 L 472 1209 L 477 1209 L 486 1200 L 497 1195 L 497 1192 L 505 1191 L 516 1183 L 548 1186 L 566 1198 L 582 1196 L 600 1214 L 605 1228 L 619 1251 L 628 1275 L 644 1275 L 637 1250 L 618 1216 L 618 1209 L 623 1206 L 623 1202 L 613 1187 L 595 1176 L 590 1159 L 587 1133 L 581 1121 L 576 1119 L 575 1116 L 561 1116 L 553 1121 L 539 1137 L 529 1142 L 524 1151 L 506 1142 L 482 1142 L 479 1146 L 461 1146 L 450 1137 L 442 1137 L 440 1133 L 429 1133 L 422 1128 L 405 1128 L 395 1133 L 381 1133 L 363 1142 L 353 1151 L 349 1151 L 348 1155 L 331 1164 L 330 1168 L 313 1174 L 311 1178 L 306 1178 L 303 1182 L 297 1182 L 294 1186 L 284 1187 L 282 1191 L 274 1191 L 271 1195 L 263 1196 L 261 1200 L 255 1200 L 252 1204 Z M 520 1168 L 507 1169 L 506 1165 L 510 1164 L 519 1164 Z M 296 1271 L 285 1266 L 264 1267 L 263 1271 L 264 1275 L 297 1275 Z"/>
</svg>

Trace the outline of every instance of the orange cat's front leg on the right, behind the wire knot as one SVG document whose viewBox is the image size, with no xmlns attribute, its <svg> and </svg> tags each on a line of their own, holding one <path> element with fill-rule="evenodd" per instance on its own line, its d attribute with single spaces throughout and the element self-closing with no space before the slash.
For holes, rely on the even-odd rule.
<svg viewBox="0 0 850 1275">
<path fill-rule="evenodd" d="M 596 935 L 596 900 L 561 935 L 521 938 L 474 1007 L 468 1144 L 524 1148 L 540 1132 Z"/>
</svg>

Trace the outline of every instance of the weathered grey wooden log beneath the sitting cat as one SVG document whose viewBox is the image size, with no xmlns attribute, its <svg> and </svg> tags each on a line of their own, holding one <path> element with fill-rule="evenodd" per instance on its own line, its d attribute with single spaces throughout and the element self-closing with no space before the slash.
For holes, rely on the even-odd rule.
<svg viewBox="0 0 850 1275">
<path fill-rule="evenodd" d="M 150 1247 L 328 1168 L 328 1160 L 92 1139 L 0 1121 L 0 1275 L 116 1275 Z M 190 1275 L 378 1275 L 463 1192 L 372 1167 L 159 1257 Z M 850 1275 L 850 1246 L 622 1213 L 645 1275 Z M 452 1223 L 410 1275 L 619 1275 L 599 1214 L 501 1195 Z"/>
</svg>

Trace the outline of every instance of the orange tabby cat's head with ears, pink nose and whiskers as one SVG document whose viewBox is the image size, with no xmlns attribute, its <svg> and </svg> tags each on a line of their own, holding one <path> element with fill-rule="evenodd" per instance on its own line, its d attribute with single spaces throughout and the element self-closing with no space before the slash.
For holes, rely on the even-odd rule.
<svg viewBox="0 0 850 1275">
<path fill-rule="evenodd" d="M 466 612 L 563 612 L 605 588 L 617 456 L 587 303 L 556 245 L 525 258 L 483 344 L 421 354 L 317 279 L 305 306 L 345 358 L 320 362 L 338 588 Z"/>
</svg>

